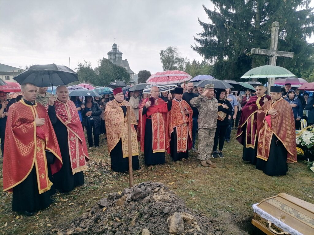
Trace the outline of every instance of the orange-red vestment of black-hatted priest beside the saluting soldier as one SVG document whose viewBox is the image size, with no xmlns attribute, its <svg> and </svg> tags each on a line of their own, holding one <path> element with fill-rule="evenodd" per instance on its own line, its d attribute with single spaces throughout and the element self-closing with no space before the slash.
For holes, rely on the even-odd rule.
<svg viewBox="0 0 314 235">
<path fill-rule="evenodd" d="M 184 113 L 184 110 L 187 109 L 190 112 L 190 115 L 187 116 Z M 187 149 L 192 148 L 192 124 L 193 124 L 193 111 L 190 105 L 181 100 L 177 102 L 176 100 L 172 101 L 171 110 L 167 113 L 167 153 L 170 154 L 170 141 L 171 133 L 176 128 L 176 137 L 177 137 L 177 152 L 186 153 Z"/>
</svg>

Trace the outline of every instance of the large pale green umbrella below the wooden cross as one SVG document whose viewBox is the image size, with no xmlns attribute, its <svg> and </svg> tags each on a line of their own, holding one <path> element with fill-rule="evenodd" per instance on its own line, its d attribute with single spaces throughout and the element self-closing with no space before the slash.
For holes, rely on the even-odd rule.
<svg viewBox="0 0 314 235">
<path fill-rule="evenodd" d="M 263 65 L 247 71 L 241 78 L 295 77 L 289 70 L 275 65 Z"/>
</svg>

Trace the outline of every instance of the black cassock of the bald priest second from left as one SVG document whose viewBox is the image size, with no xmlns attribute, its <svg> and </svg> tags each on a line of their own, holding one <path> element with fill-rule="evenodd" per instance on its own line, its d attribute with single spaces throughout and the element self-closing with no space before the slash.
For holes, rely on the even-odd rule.
<svg viewBox="0 0 314 235">
<path fill-rule="evenodd" d="M 68 130 L 57 118 L 54 106 L 49 105 L 48 115 L 57 136 L 63 163 L 61 170 L 53 175 L 53 183 L 60 192 L 65 193 L 72 191 L 78 185 L 84 184 L 84 173 L 81 171 L 74 175 L 72 174 L 68 146 Z"/>
</svg>

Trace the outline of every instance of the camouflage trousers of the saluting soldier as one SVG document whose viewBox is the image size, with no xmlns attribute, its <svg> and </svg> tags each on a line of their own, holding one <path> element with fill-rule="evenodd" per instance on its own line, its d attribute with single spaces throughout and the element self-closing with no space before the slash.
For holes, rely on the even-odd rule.
<svg viewBox="0 0 314 235">
<path fill-rule="evenodd" d="M 210 159 L 213 153 L 216 128 L 198 129 L 198 159 L 201 161 Z"/>
</svg>

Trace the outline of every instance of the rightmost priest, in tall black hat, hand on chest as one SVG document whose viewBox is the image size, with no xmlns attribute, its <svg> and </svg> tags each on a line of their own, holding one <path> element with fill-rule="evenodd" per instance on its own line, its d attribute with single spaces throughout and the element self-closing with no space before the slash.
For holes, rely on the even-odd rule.
<svg viewBox="0 0 314 235">
<path fill-rule="evenodd" d="M 295 121 L 290 104 L 281 97 L 281 87 L 270 88 L 271 102 L 257 111 L 256 169 L 266 175 L 285 175 L 287 163 L 297 162 Z"/>
</svg>

